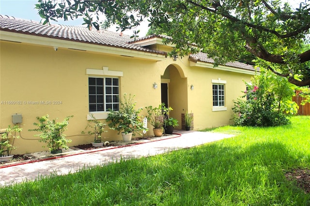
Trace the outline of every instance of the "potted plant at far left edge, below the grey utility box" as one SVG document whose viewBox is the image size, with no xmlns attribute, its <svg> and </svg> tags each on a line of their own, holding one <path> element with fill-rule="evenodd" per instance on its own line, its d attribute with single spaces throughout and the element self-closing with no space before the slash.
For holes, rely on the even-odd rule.
<svg viewBox="0 0 310 206">
<path fill-rule="evenodd" d="M 18 126 L 11 127 L 10 125 L 4 131 L 0 130 L 0 162 L 1 161 L 9 161 L 13 158 L 11 151 L 15 149 L 11 143 L 9 138 L 19 138 L 19 136 L 15 136 L 16 132 L 20 132 L 22 128 Z M 14 132 L 14 134 L 13 134 Z"/>
</svg>

